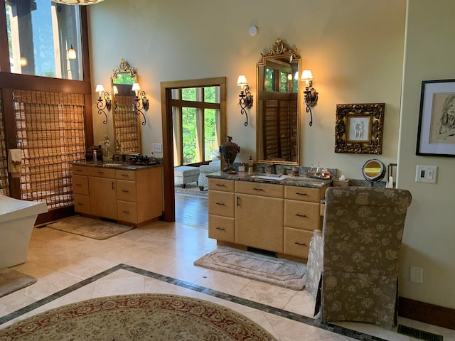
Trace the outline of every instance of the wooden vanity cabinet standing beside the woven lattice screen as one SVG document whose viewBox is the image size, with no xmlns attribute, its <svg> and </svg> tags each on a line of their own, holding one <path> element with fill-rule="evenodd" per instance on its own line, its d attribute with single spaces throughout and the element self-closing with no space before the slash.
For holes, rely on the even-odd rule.
<svg viewBox="0 0 455 341">
<path fill-rule="evenodd" d="M 161 168 L 127 171 L 73 165 L 75 212 L 135 226 L 163 212 Z"/>
</svg>

